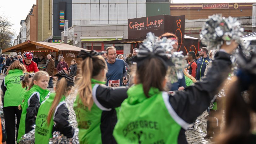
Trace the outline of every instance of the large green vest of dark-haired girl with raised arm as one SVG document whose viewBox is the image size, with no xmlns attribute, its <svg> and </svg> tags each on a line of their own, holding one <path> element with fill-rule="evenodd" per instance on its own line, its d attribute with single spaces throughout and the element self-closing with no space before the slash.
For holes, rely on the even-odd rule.
<svg viewBox="0 0 256 144">
<path fill-rule="evenodd" d="M 168 94 L 151 88 L 147 98 L 142 84 L 132 86 L 127 94 L 113 132 L 117 143 L 177 144 L 181 126 L 170 115 Z"/>
</svg>

